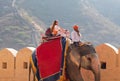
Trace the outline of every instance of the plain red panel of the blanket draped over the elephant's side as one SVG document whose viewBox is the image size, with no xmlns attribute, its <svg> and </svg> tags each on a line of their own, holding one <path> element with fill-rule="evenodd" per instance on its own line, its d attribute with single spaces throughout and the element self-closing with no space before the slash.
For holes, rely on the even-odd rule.
<svg viewBox="0 0 120 81">
<path fill-rule="evenodd" d="M 61 38 L 42 43 L 37 48 L 40 78 L 47 78 L 60 72 L 62 60 Z"/>
</svg>

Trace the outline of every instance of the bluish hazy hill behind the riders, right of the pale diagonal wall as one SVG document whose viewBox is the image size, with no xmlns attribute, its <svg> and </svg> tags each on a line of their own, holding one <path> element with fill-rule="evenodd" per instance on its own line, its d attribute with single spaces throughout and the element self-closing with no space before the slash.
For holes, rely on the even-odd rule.
<svg viewBox="0 0 120 81">
<path fill-rule="evenodd" d="M 24 0 L 18 5 L 30 15 L 46 23 L 48 27 L 55 19 L 58 19 L 60 25 L 70 31 L 74 24 L 78 24 L 83 34 L 83 41 L 91 41 L 95 45 L 108 42 L 119 47 L 120 27 L 101 14 L 92 1 Z"/>
</svg>

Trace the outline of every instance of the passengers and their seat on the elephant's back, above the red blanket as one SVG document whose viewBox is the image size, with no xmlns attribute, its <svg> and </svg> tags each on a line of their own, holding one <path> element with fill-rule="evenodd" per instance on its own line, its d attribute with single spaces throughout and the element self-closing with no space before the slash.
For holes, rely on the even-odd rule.
<svg viewBox="0 0 120 81">
<path fill-rule="evenodd" d="M 70 40 L 70 32 L 64 28 L 58 26 L 58 21 L 55 20 L 51 27 L 47 28 L 45 31 L 45 36 L 42 37 L 42 42 L 45 42 L 46 39 L 53 39 L 56 37 L 65 37 Z"/>
</svg>

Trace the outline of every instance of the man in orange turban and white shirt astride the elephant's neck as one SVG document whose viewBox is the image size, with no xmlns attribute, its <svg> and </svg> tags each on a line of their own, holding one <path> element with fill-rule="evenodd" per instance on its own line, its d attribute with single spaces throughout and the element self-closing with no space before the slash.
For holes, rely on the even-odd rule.
<svg viewBox="0 0 120 81">
<path fill-rule="evenodd" d="M 81 40 L 80 40 L 81 37 L 82 37 L 82 35 L 79 31 L 78 25 L 74 25 L 73 31 L 71 32 L 71 39 L 75 46 L 79 46 L 79 44 L 81 43 Z"/>
</svg>

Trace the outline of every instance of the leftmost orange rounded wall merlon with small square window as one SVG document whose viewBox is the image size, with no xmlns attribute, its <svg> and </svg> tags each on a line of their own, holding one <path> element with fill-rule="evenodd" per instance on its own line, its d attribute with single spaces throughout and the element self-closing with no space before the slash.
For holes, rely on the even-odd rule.
<svg viewBox="0 0 120 81">
<path fill-rule="evenodd" d="M 0 50 L 0 81 L 14 81 L 16 54 L 17 51 L 12 48 Z"/>
</svg>

